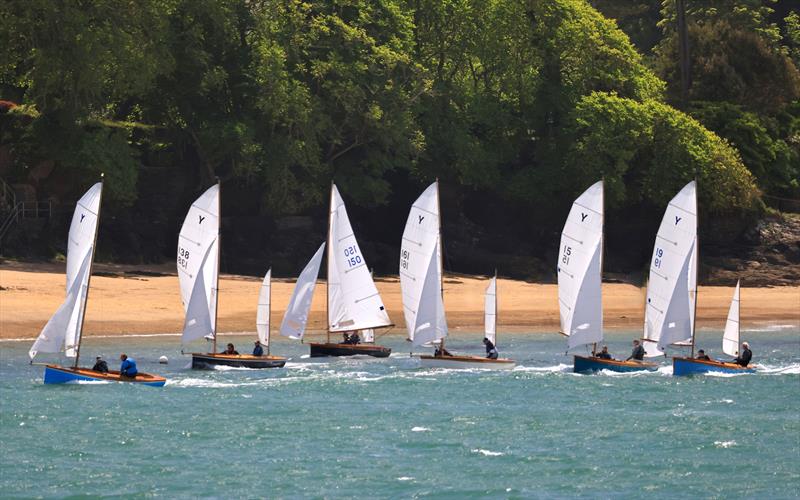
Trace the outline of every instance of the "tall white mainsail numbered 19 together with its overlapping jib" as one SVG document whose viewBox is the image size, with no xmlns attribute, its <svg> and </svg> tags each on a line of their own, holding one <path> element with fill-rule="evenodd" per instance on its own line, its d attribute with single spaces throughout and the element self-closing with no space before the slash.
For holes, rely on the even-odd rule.
<svg viewBox="0 0 800 500">
<path fill-rule="evenodd" d="M 694 181 L 669 202 L 656 235 L 645 303 L 644 347 L 658 356 L 691 340 L 697 266 L 697 197 Z"/>
</svg>

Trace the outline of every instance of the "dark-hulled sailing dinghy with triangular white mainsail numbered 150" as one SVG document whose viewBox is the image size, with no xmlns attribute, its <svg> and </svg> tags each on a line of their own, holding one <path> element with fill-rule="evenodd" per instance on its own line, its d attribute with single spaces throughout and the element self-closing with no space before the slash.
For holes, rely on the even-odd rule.
<svg viewBox="0 0 800 500">
<path fill-rule="evenodd" d="M 388 347 L 375 345 L 374 331 L 393 326 L 372 280 L 347 217 L 339 190 L 331 185 L 328 218 L 328 327 L 325 343 L 310 343 L 311 357 L 366 355 L 388 357 Z M 346 334 L 358 343 L 331 342 L 331 333 Z"/>
</svg>

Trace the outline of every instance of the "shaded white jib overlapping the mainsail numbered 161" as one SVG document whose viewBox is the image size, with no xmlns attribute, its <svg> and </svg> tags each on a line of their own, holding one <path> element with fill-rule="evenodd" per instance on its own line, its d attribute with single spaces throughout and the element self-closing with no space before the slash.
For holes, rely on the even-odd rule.
<svg viewBox="0 0 800 500">
<path fill-rule="evenodd" d="M 438 252 L 437 248 L 434 248 L 428 260 L 428 269 L 422 284 L 422 293 L 420 294 L 420 301 L 417 304 L 417 313 L 415 315 L 414 331 L 411 336 L 412 342 L 417 346 L 436 343 L 447 336 L 441 274 L 437 263 Z"/>
</svg>

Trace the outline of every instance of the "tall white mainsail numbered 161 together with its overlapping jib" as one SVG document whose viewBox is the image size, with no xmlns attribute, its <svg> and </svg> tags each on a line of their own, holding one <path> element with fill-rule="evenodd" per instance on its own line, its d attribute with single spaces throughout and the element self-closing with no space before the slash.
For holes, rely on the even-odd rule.
<svg viewBox="0 0 800 500">
<path fill-rule="evenodd" d="M 411 206 L 400 246 L 400 288 L 408 338 L 425 345 L 447 336 L 441 290 L 439 183 Z"/>
</svg>

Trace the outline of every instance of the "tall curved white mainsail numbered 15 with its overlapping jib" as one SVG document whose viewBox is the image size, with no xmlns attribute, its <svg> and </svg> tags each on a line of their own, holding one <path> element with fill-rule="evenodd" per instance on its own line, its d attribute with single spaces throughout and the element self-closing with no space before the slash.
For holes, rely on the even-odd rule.
<svg viewBox="0 0 800 500">
<path fill-rule="evenodd" d="M 558 306 L 569 348 L 602 342 L 603 181 L 572 204 L 561 232 Z"/>
</svg>

